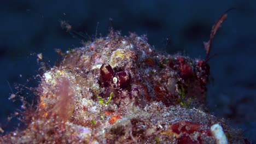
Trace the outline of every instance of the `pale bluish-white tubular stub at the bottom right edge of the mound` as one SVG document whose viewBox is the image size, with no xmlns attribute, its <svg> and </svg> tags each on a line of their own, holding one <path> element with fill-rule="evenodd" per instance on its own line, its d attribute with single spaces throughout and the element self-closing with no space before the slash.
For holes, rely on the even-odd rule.
<svg viewBox="0 0 256 144">
<path fill-rule="evenodd" d="M 226 139 L 226 135 L 223 131 L 223 128 L 218 123 L 212 125 L 211 133 L 214 136 L 217 144 L 228 144 L 228 139 Z"/>
</svg>

